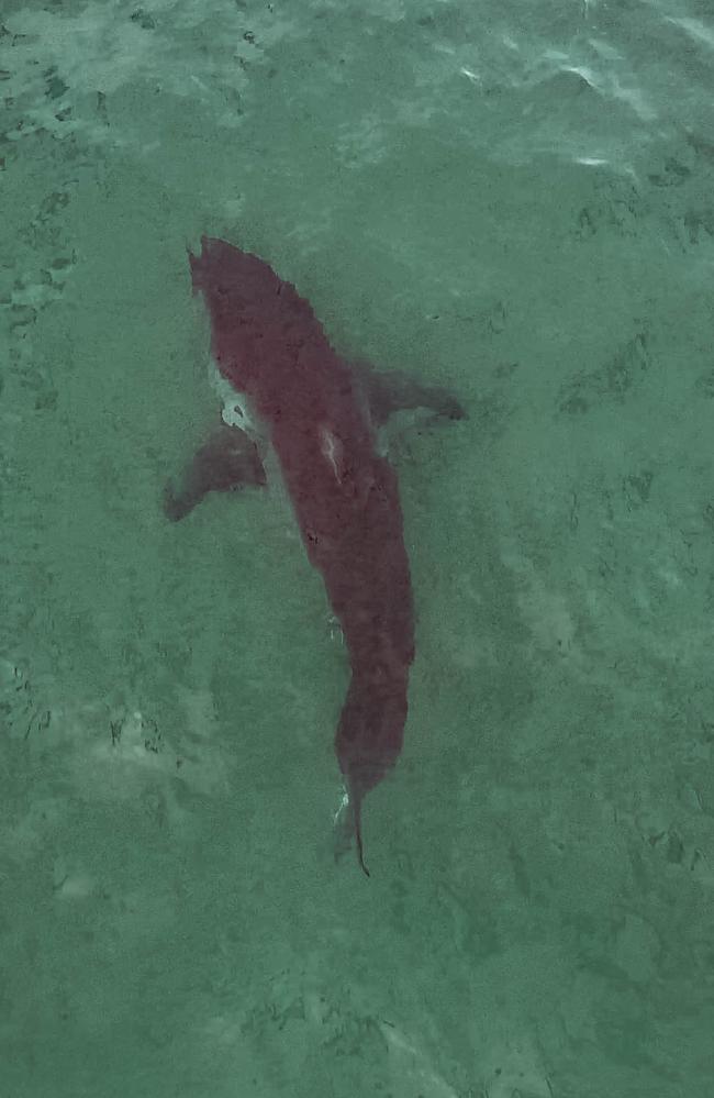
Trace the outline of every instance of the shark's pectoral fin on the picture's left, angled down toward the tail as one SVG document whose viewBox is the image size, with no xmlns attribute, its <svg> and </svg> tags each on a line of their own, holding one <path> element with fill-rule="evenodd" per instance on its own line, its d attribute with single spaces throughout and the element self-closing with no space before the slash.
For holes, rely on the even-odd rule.
<svg viewBox="0 0 714 1098">
<path fill-rule="evenodd" d="M 210 491 L 235 491 L 265 484 L 265 468 L 253 439 L 239 428 L 222 424 L 197 451 L 180 484 L 166 486 L 164 511 L 178 522 Z"/>
</svg>

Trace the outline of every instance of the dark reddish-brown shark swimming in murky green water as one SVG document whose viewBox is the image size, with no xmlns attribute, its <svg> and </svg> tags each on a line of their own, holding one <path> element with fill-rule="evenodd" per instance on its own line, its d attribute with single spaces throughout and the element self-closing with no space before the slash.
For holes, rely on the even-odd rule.
<svg viewBox="0 0 714 1098">
<path fill-rule="evenodd" d="M 397 472 L 382 428 L 402 409 L 461 420 L 447 389 L 345 359 L 310 302 L 257 255 L 201 237 L 189 251 L 194 293 L 210 318 L 211 354 L 233 400 L 164 496 L 180 521 L 211 491 L 281 477 L 308 558 L 324 581 L 349 659 L 335 733 L 344 796 L 336 853 L 362 842 L 365 797 L 394 767 L 403 744 L 414 662 L 414 596 Z"/>
</svg>

